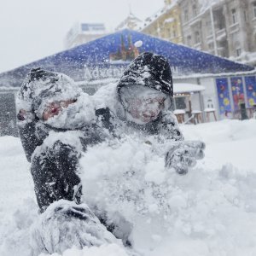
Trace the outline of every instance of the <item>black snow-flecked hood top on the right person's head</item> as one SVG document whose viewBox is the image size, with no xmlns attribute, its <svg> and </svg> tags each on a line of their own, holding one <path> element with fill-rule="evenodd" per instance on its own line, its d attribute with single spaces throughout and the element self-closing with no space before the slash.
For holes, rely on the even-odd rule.
<svg viewBox="0 0 256 256">
<path fill-rule="evenodd" d="M 131 84 L 148 86 L 173 96 L 171 67 L 162 55 L 145 52 L 131 62 L 121 77 L 117 90 Z"/>
</svg>

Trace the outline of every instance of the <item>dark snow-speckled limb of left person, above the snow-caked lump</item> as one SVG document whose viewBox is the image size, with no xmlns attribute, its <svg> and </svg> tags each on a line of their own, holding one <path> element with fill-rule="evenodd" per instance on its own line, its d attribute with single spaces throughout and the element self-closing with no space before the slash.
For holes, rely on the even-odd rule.
<svg viewBox="0 0 256 256">
<path fill-rule="evenodd" d="M 32 157 L 32 177 L 40 211 L 54 201 L 80 202 L 82 186 L 78 176 L 79 154 L 57 141 L 53 147 L 40 146 Z"/>
</svg>

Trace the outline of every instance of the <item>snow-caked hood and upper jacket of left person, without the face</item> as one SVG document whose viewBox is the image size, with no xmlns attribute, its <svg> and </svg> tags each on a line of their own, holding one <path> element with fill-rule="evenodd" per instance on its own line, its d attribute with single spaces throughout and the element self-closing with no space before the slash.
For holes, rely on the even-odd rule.
<svg viewBox="0 0 256 256">
<path fill-rule="evenodd" d="M 44 109 L 48 108 L 50 102 L 66 100 L 73 100 L 73 103 L 62 108 L 58 115 L 43 119 Z M 65 74 L 32 69 L 20 87 L 16 105 L 20 140 L 28 161 L 35 148 L 49 136 L 49 131 L 79 131 L 79 136 L 82 131 L 80 140 L 84 148 L 102 139 L 102 129 L 97 131 L 95 127 L 94 103 Z"/>
</svg>

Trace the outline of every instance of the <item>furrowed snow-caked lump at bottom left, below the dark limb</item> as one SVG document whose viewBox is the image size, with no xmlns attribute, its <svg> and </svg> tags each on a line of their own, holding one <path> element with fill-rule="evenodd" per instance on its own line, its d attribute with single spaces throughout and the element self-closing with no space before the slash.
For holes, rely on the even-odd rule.
<svg viewBox="0 0 256 256">
<path fill-rule="evenodd" d="M 55 201 L 30 231 L 33 255 L 59 253 L 71 247 L 100 247 L 118 243 L 87 205 L 76 205 L 73 201 Z"/>
</svg>

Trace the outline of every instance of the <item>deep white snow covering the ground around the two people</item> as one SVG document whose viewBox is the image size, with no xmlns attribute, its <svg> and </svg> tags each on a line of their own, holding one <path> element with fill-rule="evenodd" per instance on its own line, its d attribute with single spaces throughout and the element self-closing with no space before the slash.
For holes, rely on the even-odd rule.
<svg viewBox="0 0 256 256">
<path fill-rule="evenodd" d="M 124 213 L 133 224 L 131 238 L 140 255 L 255 255 L 256 120 L 223 120 L 182 125 L 181 129 L 186 140 L 202 140 L 207 144 L 205 159 L 185 176 L 172 170 L 166 172 L 159 153 L 163 149 L 156 147 L 154 138 L 150 138 L 151 145 L 142 143 L 143 137 L 127 137 L 121 143 L 108 142 L 89 148 L 82 162 L 84 168 L 88 166 L 84 183 L 90 183 L 86 188 L 89 194 L 96 194 L 90 194 L 88 200 L 94 197 L 101 202 L 105 195 L 103 207 Z M 30 229 L 38 223 L 39 215 L 29 166 L 20 139 L 0 137 L 1 256 L 31 255 Z M 129 176 L 131 166 L 138 171 L 136 180 Z M 125 171 L 128 171 L 126 179 Z M 146 187 L 147 182 L 154 186 Z M 131 196 L 136 193 L 137 200 L 131 197 L 131 201 L 122 205 L 116 195 L 113 200 L 108 198 L 111 190 L 113 194 L 124 192 L 125 188 L 121 188 L 124 185 L 132 186 Z M 147 192 L 144 196 L 137 190 L 140 185 Z M 160 197 L 153 196 L 156 191 Z M 72 247 L 62 255 L 127 256 L 129 253 L 119 244 L 110 243 L 82 250 Z"/>
</svg>

